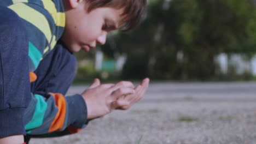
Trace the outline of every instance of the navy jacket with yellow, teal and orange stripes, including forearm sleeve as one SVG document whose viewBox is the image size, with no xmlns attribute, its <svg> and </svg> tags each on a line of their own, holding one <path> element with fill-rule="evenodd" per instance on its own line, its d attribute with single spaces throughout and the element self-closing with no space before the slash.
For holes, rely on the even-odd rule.
<svg viewBox="0 0 256 144">
<path fill-rule="evenodd" d="M 2 0 L 0 5 L 18 14 L 26 25 L 28 37 L 28 65 L 31 72 L 53 50 L 65 27 L 65 11 L 62 0 Z M 30 72 L 31 81 L 33 73 Z M 35 79 L 35 78 L 34 78 Z M 86 105 L 81 95 L 65 98 L 62 94 L 31 94 L 32 100 L 25 111 L 27 134 L 65 135 L 75 133 L 86 125 Z M 77 104 L 69 105 L 69 101 Z M 83 102 L 81 102 L 83 101 Z M 85 109 L 77 109 L 78 106 Z M 81 111 L 75 112 L 74 111 Z M 77 115 L 83 113 L 84 116 Z M 62 131 L 62 132 L 57 132 Z M 50 135 L 49 135 L 50 133 Z"/>
</svg>

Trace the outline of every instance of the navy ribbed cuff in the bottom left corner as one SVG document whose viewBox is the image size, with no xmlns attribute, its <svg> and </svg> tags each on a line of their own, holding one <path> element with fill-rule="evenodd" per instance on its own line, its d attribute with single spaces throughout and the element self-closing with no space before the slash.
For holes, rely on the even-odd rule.
<svg viewBox="0 0 256 144">
<path fill-rule="evenodd" d="M 26 134 L 24 112 L 25 108 L 23 107 L 0 110 L 0 138 Z"/>
</svg>

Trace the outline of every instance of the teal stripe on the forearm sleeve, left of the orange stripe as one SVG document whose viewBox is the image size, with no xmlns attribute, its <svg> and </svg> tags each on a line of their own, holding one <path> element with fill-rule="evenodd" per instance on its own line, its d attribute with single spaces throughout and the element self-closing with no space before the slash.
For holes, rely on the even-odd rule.
<svg viewBox="0 0 256 144">
<path fill-rule="evenodd" d="M 30 122 L 25 125 L 26 130 L 34 129 L 40 127 L 43 124 L 44 113 L 47 109 L 47 103 L 41 95 L 34 95 L 37 99 L 36 110 Z M 27 131 L 29 133 L 30 131 Z"/>
</svg>

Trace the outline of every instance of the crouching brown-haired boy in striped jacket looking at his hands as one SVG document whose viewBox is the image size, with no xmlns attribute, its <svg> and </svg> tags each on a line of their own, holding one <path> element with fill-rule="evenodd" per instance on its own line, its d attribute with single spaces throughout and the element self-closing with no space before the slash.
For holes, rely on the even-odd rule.
<svg viewBox="0 0 256 144">
<path fill-rule="evenodd" d="M 76 132 L 141 99 L 148 79 L 136 88 L 96 79 L 81 95 L 63 95 L 74 78 L 71 52 L 89 51 L 103 45 L 109 31 L 137 26 L 144 7 L 146 0 L 1 1 L 0 143 L 22 143 L 25 130 L 40 136 Z"/>
</svg>

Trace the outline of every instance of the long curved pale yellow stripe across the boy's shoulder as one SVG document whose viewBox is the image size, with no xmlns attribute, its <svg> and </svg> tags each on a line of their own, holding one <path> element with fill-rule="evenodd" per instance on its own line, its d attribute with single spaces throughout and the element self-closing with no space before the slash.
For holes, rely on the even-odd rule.
<svg viewBox="0 0 256 144">
<path fill-rule="evenodd" d="M 50 42 L 52 36 L 51 29 L 47 19 L 43 14 L 39 13 L 37 10 L 34 10 L 31 7 L 28 7 L 24 3 L 10 5 L 9 8 L 15 11 L 15 13 L 17 13 L 22 19 L 25 19 L 40 29 L 40 31 L 44 33 L 48 43 Z"/>
</svg>

